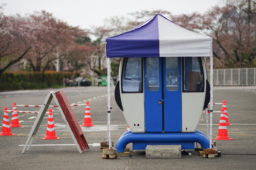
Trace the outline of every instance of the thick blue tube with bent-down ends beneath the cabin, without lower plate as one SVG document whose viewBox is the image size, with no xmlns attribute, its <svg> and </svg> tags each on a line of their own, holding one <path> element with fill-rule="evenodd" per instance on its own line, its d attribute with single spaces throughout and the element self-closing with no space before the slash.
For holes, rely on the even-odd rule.
<svg viewBox="0 0 256 170">
<path fill-rule="evenodd" d="M 197 142 L 203 149 L 209 147 L 209 140 L 201 133 L 126 133 L 116 143 L 116 152 L 124 152 L 129 143 L 184 143 Z"/>
</svg>

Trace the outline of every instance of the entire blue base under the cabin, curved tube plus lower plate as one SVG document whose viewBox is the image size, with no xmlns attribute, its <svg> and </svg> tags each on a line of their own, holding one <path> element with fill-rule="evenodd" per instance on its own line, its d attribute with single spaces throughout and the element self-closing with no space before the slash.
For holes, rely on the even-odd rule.
<svg viewBox="0 0 256 170">
<path fill-rule="evenodd" d="M 194 143 L 199 143 L 203 149 L 210 146 L 209 140 L 200 132 L 195 133 L 132 133 L 125 132 L 116 143 L 116 152 L 124 152 L 127 144 L 132 143 L 132 149 L 145 150 L 147 145 L 181 145 L 181 149 L 194 149 Z"/>
</svg>

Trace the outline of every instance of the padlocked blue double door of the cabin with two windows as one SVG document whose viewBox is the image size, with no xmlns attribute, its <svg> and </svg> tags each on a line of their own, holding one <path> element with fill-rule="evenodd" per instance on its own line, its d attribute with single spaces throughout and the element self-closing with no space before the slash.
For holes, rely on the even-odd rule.
<svg viewBox="0 0 256 170">
<path fill-rule="evenodd" d="M 148 57 L 145 69 L 145 131 L 177 133 L 181 125 L 181 58 Z"/>
</svg>

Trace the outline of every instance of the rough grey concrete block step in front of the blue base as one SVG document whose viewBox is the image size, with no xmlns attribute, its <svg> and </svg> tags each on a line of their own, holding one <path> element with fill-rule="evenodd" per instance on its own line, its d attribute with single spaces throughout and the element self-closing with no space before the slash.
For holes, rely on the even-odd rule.
<svg viewBox="0 0 256 170">
<path fill-rule="evenodd" d="M 147 145 L 146 158 L 180 159 L 181 145 Z"/>
</svg>

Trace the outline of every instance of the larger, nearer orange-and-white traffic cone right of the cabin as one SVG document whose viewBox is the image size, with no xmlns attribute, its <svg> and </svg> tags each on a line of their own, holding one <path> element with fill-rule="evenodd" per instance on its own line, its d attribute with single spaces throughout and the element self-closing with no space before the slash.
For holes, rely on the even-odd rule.
<svg viewBox="0 0 256 170">
<path fill-rule="evenodd" d="M 232 139 L 234 139 L 234 138 L 232 138 Z M 231 140 L 228 137 L 225 111 L 223 108 L 221 109 L 221 112 L 220 112 L 220 126 L 219 126 L 218 136 L 214 140 Z"/>
</svg>

